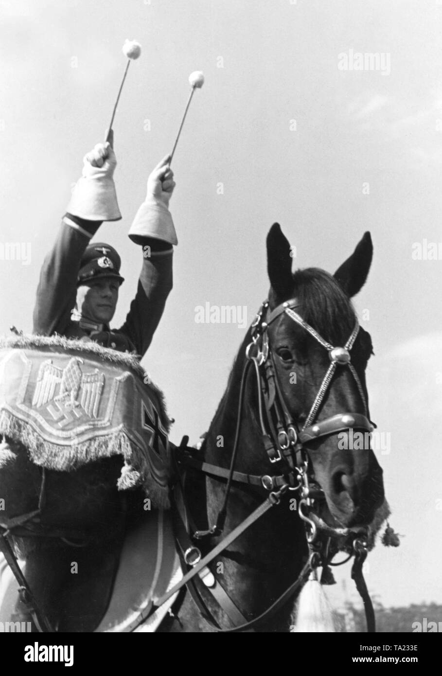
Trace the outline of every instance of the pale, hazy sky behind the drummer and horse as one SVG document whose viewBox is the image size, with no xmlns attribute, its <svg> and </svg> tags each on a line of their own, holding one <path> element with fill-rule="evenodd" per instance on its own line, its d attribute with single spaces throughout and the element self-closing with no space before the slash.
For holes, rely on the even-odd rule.
<svg viewBox="0 0 442 676">
<path fill-rule="evenodd" d="M 389 433 L 378 458 L 404 536 L 368 559 L 385 606 L 442 603 L 442 244 L 428 260 L 442 242 L 441 31 L 438 0 L 0 1 L 0 244 L 24 246 L 23 260 L 0 246 L 0 333 L 32 329 L 41 263 L 82 156 L 103 140 L 129 38 L 143 53 L 114 124 L 123 220 L 98 235 L 122 256 L 122 323 L 141 267 L 128 228 L 172 147 L 187 78 L 205 74 L 173 162 L 174 289 L 143 361 L 176 418 L 172 441 L 207 429 L 246 330 L 196 323 L 195 308 L 245 306 L 249 324 L 268 293 L 271 224 L 296 247 L 294 266 L 330 272 L 372 233 L 355 306 L 374 343 L 371 414 Z M 358 53 L 378 62 L 355 70 Z M 340 575 L 350 594 L 349 569 Z M 342 602 L 341 585 L 333 596 Z"/>
</svg>

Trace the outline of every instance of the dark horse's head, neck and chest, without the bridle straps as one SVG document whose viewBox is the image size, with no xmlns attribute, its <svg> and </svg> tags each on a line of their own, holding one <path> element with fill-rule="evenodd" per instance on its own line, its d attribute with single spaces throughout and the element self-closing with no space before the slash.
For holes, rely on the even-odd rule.
<svg viewBox="0 0 442 676">
<path fill-rule="evenodd" d="M 297 270 L 292 274 L 290 245 L 278 224 L 274 224 L 270 229 L 267 249 L 270 279 L 268 306 L 261 309 L 261 314 L 253 324 L 258 329 L 264 326 L 261 333 L 268 334 L 266 337 L 268 354 L 262 347 L 264 364 L 261 368 L 264 368 L 264 374 L 267 376 L 267 385 L 273 372 L 280 399 L 285 402 L 284 408 L 298 431 L 298 444 L 299 438 L 308 436 L 304 434 L 303 437 L 302 433 L 299 433 L 299 430 L 305 427 L 305 423 L 313 430 L 310 438 L 303 443 L 303 458 L 312 486 L 318 489 L 316 491 L 318 500 L 314 500 L 315 508 L 310 514 L 312 521 L 322 527 L 317 541 L 322 539 L 325 542 L 330 535 L 335 536 L 339 533 L 357 533 L 358 529 L 363 527 L 366 531 L 367 546 L 372 548 L 374 535 L 389 514 L 383 489 L 383 472 L 369 445 L 365 450 L 345 450 L 349 427 L 352 424 L 358 427 L 355 418 L 358 418 L 358 415 L 369 416 L 365 370 L 372 354 L 370 335 L 364 329 L 359 329 L 351 348 L 353 368 L 347 368 L 345 357 L 344 360 L 338 361 L 333 377 L 323 393 L 322 401 L 319 402 L 312 417 L 312 405 L 318 391 L 324 385 L 324 375 L 330 368 L 331 356 L 301 323 L 293 321 L 287 312 L 280 312 L 285 308 L 283 305 L 285 301 L 290 301 L 289 306 L 295 307 L 299 318 L 303 318 L 322 339 L 330 343 L 330 346 L 345 345 L 355 329 L 356 322 L 350 298 L 364 285 L 372 260 L 370 234 L 364 235 L 353 254 L 334 276 L 318 268 Z M 264 320 L 268 323 L 267 327 L 262 323 Z M 207 529 L 207 525 L 210 528 L 216 523 L 226 496 L 226 478 L 215 477 L 214 466 L 221 468 L 230 466 L 237 431 L 241 377 L 247 362 L 247 345 L 252 342 L 253 331 L 252 325 L 239 349 L 226 391 L 205 438 L 200 453 L 200 460 L 206 463 L 205 473 L 197 469 L 188 469 L 186 473 L 185 498 L 189 513 L 193 515 L 200 529 Z M 259 333 L 257 335 L 259 336 Z M 337 356 L 339 357 L 339 354 Z M 269 372 L 266 367 L 270 364 L 273 371 Z M 276 447 L 276 452 L 279 451 L 284 457 L 281 461 L 270 462 L 274 457 L 272 448 L 270 452 L 266 452 L 270 445 L 266 443 L 268 437 L 265 435 L 263 437 L 260 425 L 259 388 L 255 371 L 250 368 L 245 378 L 243 404 L 239 413 L 241 427 L 237 440 L 235 471 L 261 477 L 275 475 L 278 472 L 284 474 L 284 467 L 289 466 L 286 462 L 289 453 L 287 449 L 284 454 L 287 437 L 283 428 L 284 423 L 287 425 L 287 420 L 283 420 L 282 424 L 280 422 L 278 424 L 278 421 L 274 423 L 278 429 L 281 427 L 282 437 L 276 430 L 276 437 L 280 443 L 279 449 L 275 443 L 273 450 Z M 325 421 L 325 425 L 328 425 L 330 416 L 338 418 L 337 414 L 342 412 L 353 414 L 353 421 L 346 421 L 345 416 L 341 416 L 341 427 L 333 423 L 335 427 L 332 426 L 330 429 L 315 429 L 320 427 L 321 421 Z M 270 417 L 272 416 L 274 417 L 273 411 Z M 280 418 L 284 418 L 284 412 Z M 331 420 L 335 420 L 335 417 L 331 417 Z M 311 427 L 312 422 L 317 425 Z M 342 426 L 346 429 L 343 430 Z M 361 428 L 366 429 L 364 425 L 361 425 Z M 318 438 L 315 438 L 316 433 Z M 295 440 L 290 440 L 292 443 L 289 451 L 292 453 L 299 451 L 299 447 L 297 449 L 296 443 L 293 443 Z M 299 459 L 299 455 L 296 457 Z M 186 462 L 183 464 L 186 465 Z M 197 466 L 195 461 L 193 464 Z M 223 535 L 245 520 L 262 503 L 266 494 L 264 488 L 260 489 L 241 481 L 232 481 L 228 492 Z M 304 496 L 306 494 L 303 493 Z M 314 492 L 310 494 L 314 495 Z M 227 592 L 246 621 L 260 616 L 272 606 L 285 589 L 297 579 L 308 558 L 305 522 L 299 518 L 298 512 L 293 510 L 294 496 L 297 496 L 296 492 L 287 491 L 279 504 L 255 521 L 228 546 L 226 551 L 218 555 L 210 566 L 218 584 Z M 201 539 L 199 547 L 203 554 L 209 552 L 222 539 L 218 531 L 215 533 L 216 535 L 209 534 Z M 328 542 L 328 562 L 339 549 L 351 552 L 343 541 L 336 544 L 337 540 L 334 537 Z M 210 587 L 205 587 L 199 581 L 195 586 L 197 588 L 193 596 L 199 602 L 199 610 L 202 610 L 206 617 L 212 618 L 215 626 L 230 629 L 238 623 L 241 624 L 240 621 L 235 621 L 236 613 L 229 612 L 228 605 L 224 604 L 226 610 L 224 612 L 221 607 L 223 604 L 220 606 L 210 594 Z M 276 613 L 264 618 L 256 629 L 289 631 L 293 623 L 295 597 L 296 594 L 293 594 Z M 212 631 L 201 619 L 199 610 L 187 594 L 178 612 L 178 619 L 169 619 L 162 630 Z"/>
</svg>

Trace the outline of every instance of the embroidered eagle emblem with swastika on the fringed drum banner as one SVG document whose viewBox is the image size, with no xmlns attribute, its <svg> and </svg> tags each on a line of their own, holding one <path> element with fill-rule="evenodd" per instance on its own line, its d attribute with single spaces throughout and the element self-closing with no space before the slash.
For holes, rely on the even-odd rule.
<svg viewBox="0 0 442 676">
<path fill-rule="evenodd" d="M 89 418 L 97 418 L 104 375 L 98 368 L 91 373 L 83 373 L 80 368 L 83 363 L 78 357 L 72 357 L 66 368 L 58 368 L 51 359 L 43 362 L 32 406 L 47 406 L 54 420 L 64 418 L 59 425 L 70 422 L 72 414 L 80 418 L 84 412 Z"/>
</svg>

